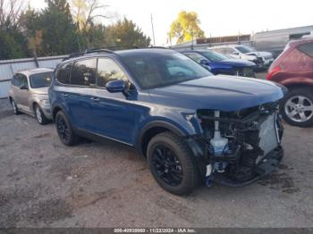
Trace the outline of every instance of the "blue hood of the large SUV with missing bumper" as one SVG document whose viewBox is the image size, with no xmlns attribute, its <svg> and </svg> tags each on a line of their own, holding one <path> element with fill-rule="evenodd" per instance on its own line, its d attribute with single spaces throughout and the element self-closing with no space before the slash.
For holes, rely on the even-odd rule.
<svg viewBox="0 0 313 234">
<path fill-rule="evenodd" d="M 190 111 L 212 109 L 231 112 L 277 101 L 285 92 L 283 86 L 274 82 L 218 75 L 151 89 L 150 96 L 157 104 Z"/>
</svg>

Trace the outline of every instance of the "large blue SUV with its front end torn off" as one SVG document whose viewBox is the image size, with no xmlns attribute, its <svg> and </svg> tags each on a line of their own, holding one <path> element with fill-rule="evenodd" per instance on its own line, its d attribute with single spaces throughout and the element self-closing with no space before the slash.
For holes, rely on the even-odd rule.
<svg viewBox="0 0 313 234">
<path fill-rule="evenodd" d="M 49 88 L 63 144 L 110 139 L 134 147 L 165 190 L 249 184 L 283 157 L 270 81 L 212 75 L 170 49 L 89 50 L 60 63 Z"/>
</svg>

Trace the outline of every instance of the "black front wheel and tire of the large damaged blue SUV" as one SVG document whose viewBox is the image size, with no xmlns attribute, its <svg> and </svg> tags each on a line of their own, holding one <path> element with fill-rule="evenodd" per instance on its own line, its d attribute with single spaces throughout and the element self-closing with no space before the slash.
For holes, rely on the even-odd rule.
<svg viewBox="0 0 313 234">
<path fill-rule="evenodd" d="M 199 170 L 182 138 L 164 132 L 148 143 L 148 166 L 157 183 L 175 195 L 190 194 L 199 185 Z"/>
</svg>

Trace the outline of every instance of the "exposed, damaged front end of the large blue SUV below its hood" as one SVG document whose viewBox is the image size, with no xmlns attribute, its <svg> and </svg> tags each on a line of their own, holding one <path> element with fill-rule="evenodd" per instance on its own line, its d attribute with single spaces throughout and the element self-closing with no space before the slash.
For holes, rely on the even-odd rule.
<svg viewBox="0 0 313 234">
<path fill-rule="evenodd" d="M 283 157 L 278 103 L 239 112 L 198 110 L 205 145 L 206 183 L 242 186 L 274 171 Z"/>
</svg>

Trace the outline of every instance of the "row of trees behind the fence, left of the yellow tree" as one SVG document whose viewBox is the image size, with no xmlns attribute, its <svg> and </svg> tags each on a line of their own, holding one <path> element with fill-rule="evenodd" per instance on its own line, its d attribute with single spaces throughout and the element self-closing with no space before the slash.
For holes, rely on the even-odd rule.
<svg viewBox="0 0 313 234">
<path fill-rule="evenodd" d="M 126 18 L 107 27 L 89 20 L 82 30 L 73 21 L 66 0 L 46 2 L 42 11 L 26 9 L 18 23 L 0 24 L 0 59 L 70 54 L 91 47 L 150 45 L 150 38 Z"/>
</svg>

